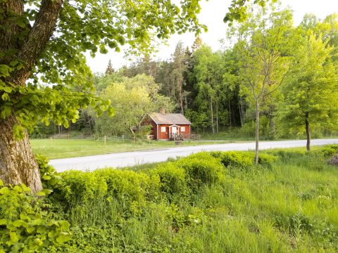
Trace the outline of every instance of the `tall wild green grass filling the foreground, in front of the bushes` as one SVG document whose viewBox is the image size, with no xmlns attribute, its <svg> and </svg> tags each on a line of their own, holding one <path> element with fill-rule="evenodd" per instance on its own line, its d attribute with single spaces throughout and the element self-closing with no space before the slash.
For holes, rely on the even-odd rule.
<svg viewBox="0 0 338 253">
<path fill-rule="evenodd" d="M 176 197 L 145 192 L 152 197 L 142 204 L 130 195 L 75 200 L 65 211 L 74 238 L 58 251 L 337 252 L 338 168 L 318 153 L 289 152 L 270 166 L 224 167 L 219 181 Z M 195 155 L 167 168 L 198 157 L 206 162 L 207 155 Z"/>
</svg>

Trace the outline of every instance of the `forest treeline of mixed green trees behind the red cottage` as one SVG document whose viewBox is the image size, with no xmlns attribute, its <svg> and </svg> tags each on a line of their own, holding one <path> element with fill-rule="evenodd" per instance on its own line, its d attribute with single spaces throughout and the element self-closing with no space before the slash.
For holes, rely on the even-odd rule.
<svg viewBox="0 0 338 253">
<path fill-rule="evenodd" d="M 253 8 L 248 20 L 225 32 L 223 49 L 196 38 L 179 42 L 168 60 L 139 58 L 95 74 L 97 95 L 111 100 L 115 116 L 90 108 L 71 131 L 134 134 L 146 112 L 184 114 L 197 133 L 236 131 L 264 138 L 308 138 L 337 132 L 338 15 L 307 14 L 293 25 L 292 10 Z M 39 124 L 33 136 L 61 126 Z M 258 138 L 258 137 L 257 137 Z"/>
</svg>

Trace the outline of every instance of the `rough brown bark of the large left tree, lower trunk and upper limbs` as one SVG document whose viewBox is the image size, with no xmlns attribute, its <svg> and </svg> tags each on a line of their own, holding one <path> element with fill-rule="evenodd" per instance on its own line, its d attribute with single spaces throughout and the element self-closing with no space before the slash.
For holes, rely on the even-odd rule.
<svg viewBox="0 0 338 253">
<path fill-rule="evenodd" d="M 24 2 L 0 1 L 0 53 L 15 49 L 13 54 L 0 56 L 0 64 L 9 65 L 14 59 L 23 64 L 20 70 L 13 70 L 10 77 L 1 77 L 1 82 L 8 86 L 25 86 L 32 67 L 54 32 L 63 4 L 63 0 L 42 0 L 33 26 L 20 27 L 16 20 L 23 15 Z M 42 190 L 39 168 L 27 132 L 20 140 L 14 138 L 13 128 L 18 124 L 15 112 L 0 119 L 0 179 L 5 184 L 25 183 L 35 193 Z"/>
</svg>

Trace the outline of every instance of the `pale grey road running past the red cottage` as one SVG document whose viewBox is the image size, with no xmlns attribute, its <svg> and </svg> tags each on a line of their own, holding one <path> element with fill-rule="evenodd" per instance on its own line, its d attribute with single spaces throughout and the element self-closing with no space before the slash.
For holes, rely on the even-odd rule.
<svg viewBox="0 0 338 253">
<path fill-rule="evenodd" d="M 300 141 L 262 141 L 260 150 L 269 148 L 294 148 L 306 146 L 305 140 Z M 311 140 L 311 145 L 338 144 L 338 139 Z M 198 145 L 193 147 L 165 148 L 161 150 L 146 150 L 125 153 L 113 153 L 108 155 L 91 155 L 87 157 L 72 157 L 51 160 L 57 171 L 68 169 L 94 170 L 104 167 L 127 167 L 137 164 L 163 162 L 168 157 L 184 157 L 201 151 L 229 151 L 229 150 L 254 150 L 255 143 L 227 143 L 214 145 Z"/>
</svg>

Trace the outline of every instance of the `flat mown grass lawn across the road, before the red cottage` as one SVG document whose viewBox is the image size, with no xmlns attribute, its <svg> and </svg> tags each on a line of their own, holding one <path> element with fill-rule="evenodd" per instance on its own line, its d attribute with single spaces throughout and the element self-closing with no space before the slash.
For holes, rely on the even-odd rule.
<svg viewBox="0 0 338 253">
<path fill-rule="evenodd" d="M 181 145 L 192 146 L 230 142 L 234 141 L 184 141 Z M 151 141 L 150 143 L 149 141 L 136 141 L 133 143 L 132 141 L 108 140 L 104 145 L 103 140 L 31 139 L 30 143 L 32 143 L 35 154 L 44 155 L 49 159 L 175 147 L 173 141 Z"/>
</svg>

